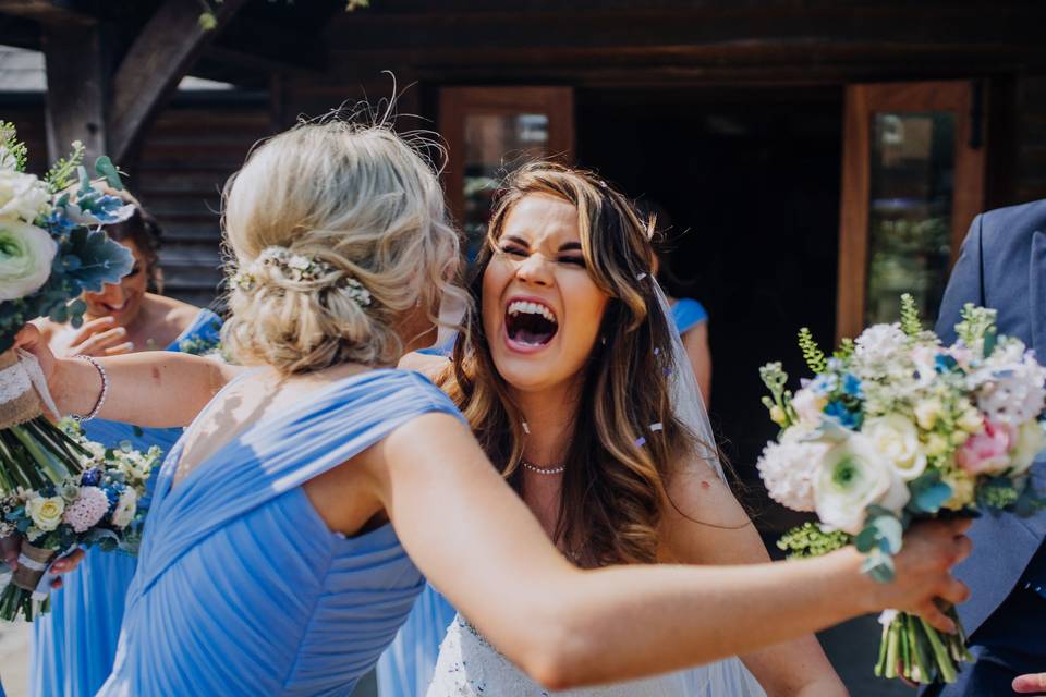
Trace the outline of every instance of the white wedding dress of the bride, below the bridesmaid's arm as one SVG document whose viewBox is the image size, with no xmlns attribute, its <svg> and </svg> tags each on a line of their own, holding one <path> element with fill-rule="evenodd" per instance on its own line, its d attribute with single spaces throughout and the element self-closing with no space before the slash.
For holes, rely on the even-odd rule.
<svg viewBox="0 0 1046 697">
<path fill-rule="evenodd" d="M 447 628 L 426 697 L 765 697 L 737 658 L 657 677 L 550 692 L 498 652 L 461 615 Z"/>
</svg>

